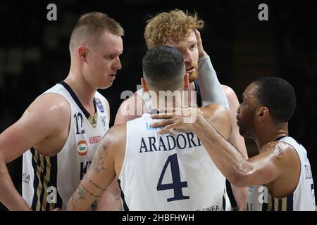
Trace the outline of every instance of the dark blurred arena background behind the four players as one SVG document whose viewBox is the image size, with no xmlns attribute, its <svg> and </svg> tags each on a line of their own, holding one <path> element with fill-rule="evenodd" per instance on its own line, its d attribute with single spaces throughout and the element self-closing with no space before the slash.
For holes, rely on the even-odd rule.
<svg viewBox="0 0 317 225">
<path fill-rule="evenodd" d="M 57 6 L 57 21 L 48 21 L 46 6 Z M 259 21 L 259 4 L 268 4 L 268 21 Z M 309 154 L 317 181 L 316 75 L 317 31 L 313 1 L 0 1 L 0 131 L 20 118 L 32 101 L 68 75 L 68 41 L 77 19 L 101 11 L 125 29 L 123 69 L 111 88 L 101 90 L 111 105 L 111 124 L 122 91 L 136 91 L 146 51 L 144 27 L 150 15 L 175 8 L 197 11 L 206 25 L 201 31 L 220 83 L 242 91 L 256 77 L 287 79 L 297 93 L 290 136 Z M 249 155 L 253 141 L 246 140 Z M 1 146 L 0 146 L 1 148 Z M 20 191 L 21 158 L 9 163 Z M 1 190 L 0 190 L 1 191 Z M 0 210 L 5 210 L 1 207 Z"/>
</svg>

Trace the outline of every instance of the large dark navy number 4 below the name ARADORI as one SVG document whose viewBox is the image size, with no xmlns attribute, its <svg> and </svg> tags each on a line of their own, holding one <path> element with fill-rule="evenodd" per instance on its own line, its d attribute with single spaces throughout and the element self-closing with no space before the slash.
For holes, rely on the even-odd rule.
<svg viewBox="0 0 317 225">
<path fill-rule="evenodd" d="M 170 170 L 172 172 L 172 180 L 173 183 L 171 184 L 162 184 L 164 174 L 166 173 L 166 169 L 170 164 Z M 187 181 L 180 181 L 180 167 L 178 165 L 178 155 L 175 153 L 174 155 L 170 155 L 166 160 L 166 163 L 163 167 L 161 172 L 161 176 L 159 179 L 159 183 L 157 184 L 157 191 L 163 191 L 168 189 L 174 190 L 174 197 L 168 198 L 167 201 L 175 201 L 175 200 L 182 200 L 182 199 L 189 199 L 189 196 L 184 196 L 182 194 L 182 188 L 187 188 Z"/>
</svg>

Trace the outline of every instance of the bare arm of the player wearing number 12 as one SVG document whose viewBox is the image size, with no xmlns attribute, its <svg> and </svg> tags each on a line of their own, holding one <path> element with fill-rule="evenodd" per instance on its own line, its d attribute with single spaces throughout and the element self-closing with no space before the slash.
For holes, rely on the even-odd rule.
<svg viewBox="0 0 317 225">
<path fill-rule="evenodd" d="M 44 156 L 56 155 L 68 136 L 70 106 L 56 94 L 39 96 L 23 116 L 0 135 L 0 201 L 9 210 L 30 210 L 16 191 L 6 164 L 35 146 Z"/>
</svg>

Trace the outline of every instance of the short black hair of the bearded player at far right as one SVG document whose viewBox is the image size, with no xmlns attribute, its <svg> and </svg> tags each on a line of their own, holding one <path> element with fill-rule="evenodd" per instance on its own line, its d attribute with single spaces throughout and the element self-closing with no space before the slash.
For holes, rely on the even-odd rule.
<svg viewBox="0 0 317 225">
<path fill-rule="evenodd" d="M 296 108 L 296 96 L 293 86 L 279 77 L 260 77 L 254 80 L 256 98 L 259 104 L 270 110 L 275 122 L 287 122 Z"/>
</svg>

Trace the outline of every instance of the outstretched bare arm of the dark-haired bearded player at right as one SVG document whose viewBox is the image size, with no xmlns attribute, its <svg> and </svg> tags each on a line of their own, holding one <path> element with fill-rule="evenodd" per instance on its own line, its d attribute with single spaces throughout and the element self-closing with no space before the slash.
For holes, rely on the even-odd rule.
<svg viewBox="0 0 317 225">
<path fill-rule="evenodd" d="M 194 131 L 209 151 L 215 165 L 235 186 L 265 184 L 274 196 L 281 198 L 294 191 L 297 186 L 299 157 L 287 143 L 268 143 L 261 148 L 259 155 L 246 160 L 201 114 L 197 114 L 197 120 L 193 124 L 178 122 L 175 127 L 173 124 L 168 126 L 169 129 L 182 126 L 182 129 Z M 287 186 L 287 191 L 282 188 L 283 192 L 280 192 L 279 185 Z"/>
</svg>

